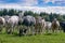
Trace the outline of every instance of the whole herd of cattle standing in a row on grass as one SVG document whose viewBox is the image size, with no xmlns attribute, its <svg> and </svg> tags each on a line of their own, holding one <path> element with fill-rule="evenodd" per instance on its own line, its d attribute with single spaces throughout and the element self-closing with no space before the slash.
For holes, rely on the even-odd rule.
<svg viewBox="0 0 65 43">
<path fill-rule="evenodd" d="M 65 22 L 58 22 L 56 18 L 52 22 L 46 22 L 41 16 L 0 16 L 0 31 L 5 27 L 6 33 L 14 33 L 15 26 L 21 26 L 17 28 L 20 35 L 28 34 L 29 32 L 31 34 L 42 34 L 43 31 L 49 32 L 49 30 L 52 32 L 63 30 L 65 32 Z"/>
</svg>

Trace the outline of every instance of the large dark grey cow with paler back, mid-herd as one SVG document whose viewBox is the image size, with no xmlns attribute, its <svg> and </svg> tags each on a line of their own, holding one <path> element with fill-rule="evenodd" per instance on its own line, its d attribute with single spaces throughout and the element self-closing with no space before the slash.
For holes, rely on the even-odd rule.
<svg viewBox="0 0 65 43">
<path fill-rule="evenodd" d="M 27 29 L 31 30 L 31 33 L 34 34 L 34 28 L 32 26 L 36 24 L 36 19 L 35 17 L 30 16 L 30 15 L 27 15 L 27 16 L 24 16 L 23 17 L 23 25 L 27 26 Z M 31 29 L 29 28 L 31 26 Z"/>
</svg>

